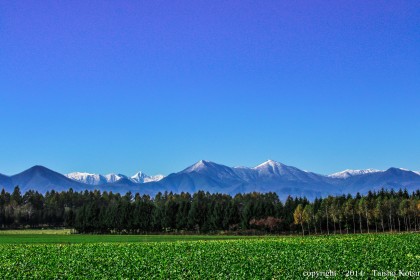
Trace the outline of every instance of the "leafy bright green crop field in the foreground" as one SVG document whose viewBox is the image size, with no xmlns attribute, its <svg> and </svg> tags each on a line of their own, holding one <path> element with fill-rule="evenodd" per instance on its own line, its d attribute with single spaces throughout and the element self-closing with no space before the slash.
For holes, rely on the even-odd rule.
<svg viewBox="0 0 420 280">
<path fill-rule="evenodd" d="M 399 279 L 401 271 L 415 279 L 420 270 L 420 235 L 414 233 L 155 240 L 161 242 L 79 236 L 87 242 L 12 242 L 1 235 L 0 278 L 393 279 L 377 274 L 395 272 Z"/>
</svg>

